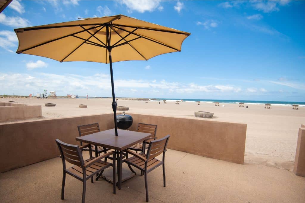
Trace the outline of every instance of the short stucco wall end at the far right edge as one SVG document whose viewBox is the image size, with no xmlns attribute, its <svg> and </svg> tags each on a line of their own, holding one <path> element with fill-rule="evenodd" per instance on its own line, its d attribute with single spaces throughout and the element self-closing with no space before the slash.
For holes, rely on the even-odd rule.
<svg viewBox="0 0 305 203">
<path fill-rule="evenodd" d="M 301 125 L 299 128 L 293 172 L 298 176 L 305 177 L 305 125 Z"/>
</svg>

